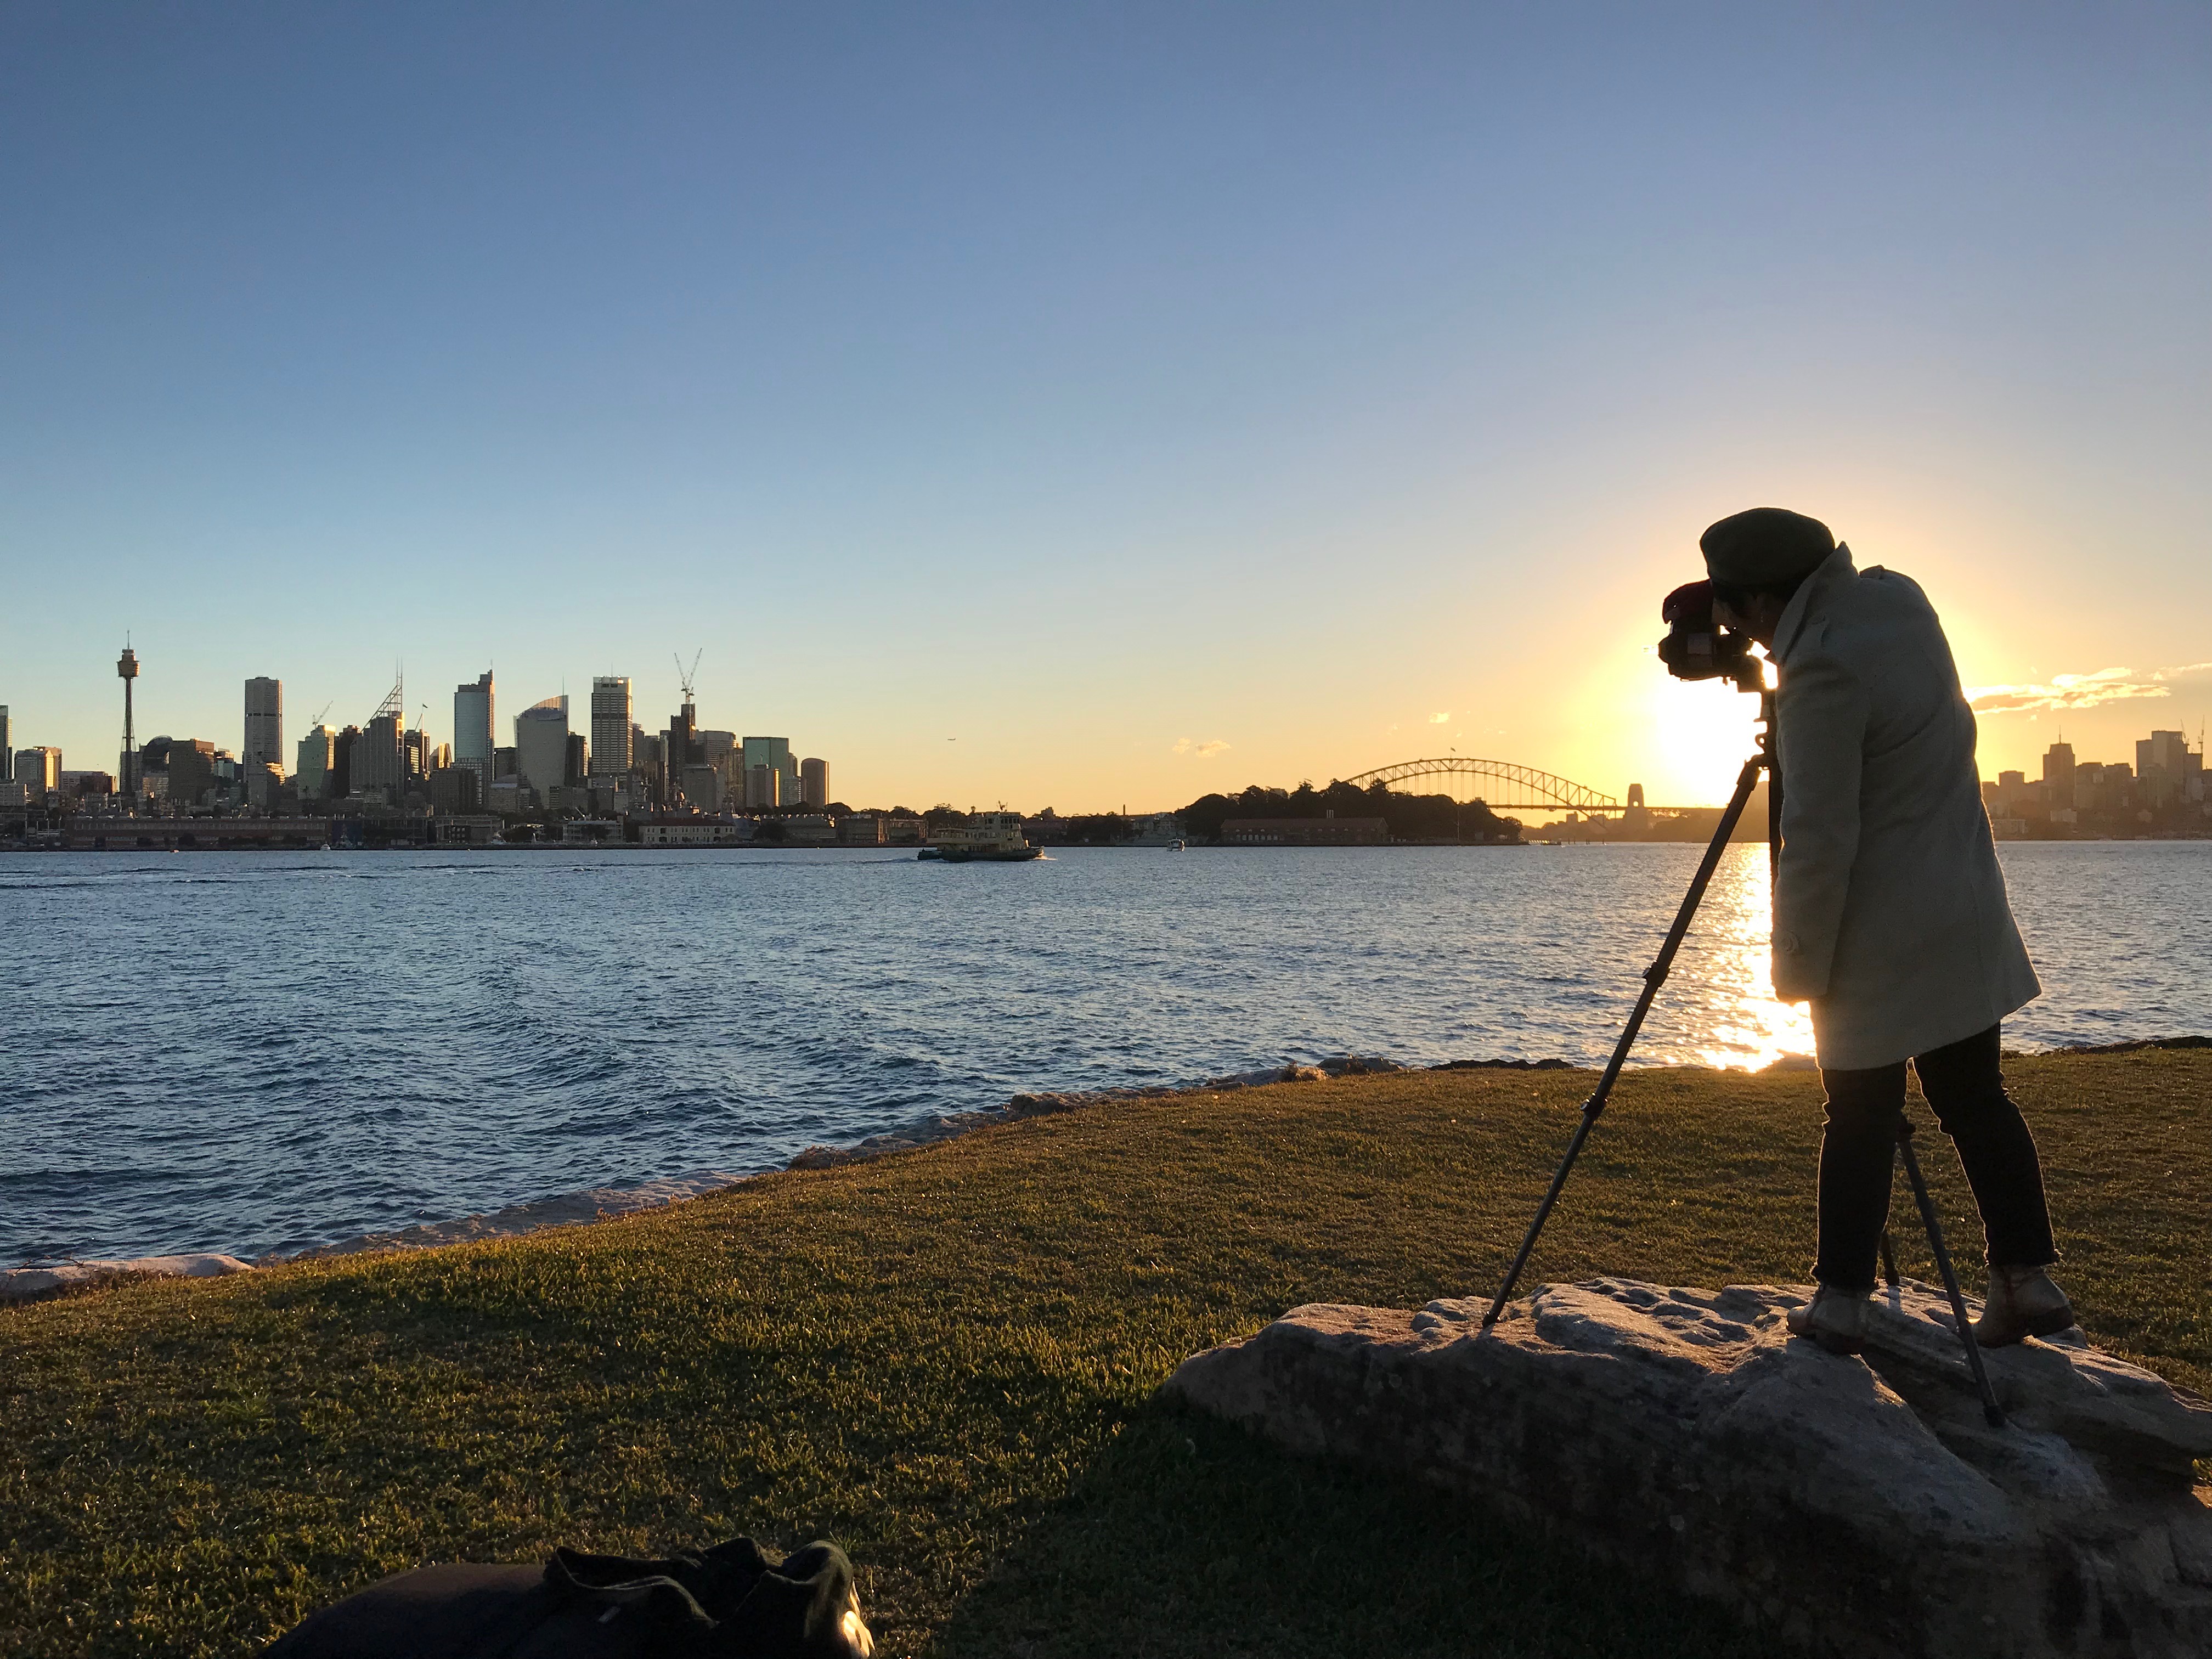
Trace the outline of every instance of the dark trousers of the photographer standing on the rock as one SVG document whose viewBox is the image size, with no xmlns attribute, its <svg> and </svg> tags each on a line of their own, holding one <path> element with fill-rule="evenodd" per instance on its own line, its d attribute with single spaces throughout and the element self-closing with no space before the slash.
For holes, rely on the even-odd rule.
<svg viewBox="0 0 2212 1659">
<path fill-rule="evenodd" d="M 2004 1093 L 1997 1026 L 1913 1055 L 1920 1093 L 1958 1148 L 1982 1210 L 1991 1267 L 2042 1267 L 2059 1259 L 2044 1203 L 2035 1137 Z M 1814 1279 L 1871 1290 L 1874 1259 L 1889 1223 L 1889 1188 L 1905 1113 L 1905 1062 L 1867 1071 L 1823 1071 L 1827 1124 L 1820 1133 L 1820 1259 Z"/>
</svg>

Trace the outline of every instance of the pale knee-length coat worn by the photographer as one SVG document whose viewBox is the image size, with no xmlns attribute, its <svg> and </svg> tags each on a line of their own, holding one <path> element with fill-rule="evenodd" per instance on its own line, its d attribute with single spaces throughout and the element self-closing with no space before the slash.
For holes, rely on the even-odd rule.
<svg viewBox="0 0 2212 1659">
<path fill-rule="evenodd" d="M 1911 577 L 1838 546 L 1774 628 L 1783 849 L 1774 993 L 1825 1071 L 1986 1031 L 2042 987 L 2004 898 L 1973 710 Z"/>
</svg>

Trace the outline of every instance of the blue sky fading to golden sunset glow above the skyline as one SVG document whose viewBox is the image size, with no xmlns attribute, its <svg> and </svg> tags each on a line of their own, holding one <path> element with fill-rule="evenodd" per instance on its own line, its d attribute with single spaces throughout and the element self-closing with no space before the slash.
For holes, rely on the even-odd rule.
<svg viewBox="0 0 2212 1659">
<path fill-rule="evenodd" d="M 1648 641 L 1759 502 L 2055 688 L 1986 772 L 2212 710 L 2203 4 L 18 0 L 0 155 L 0 701 L 75 768 L 128 630 L 223 745 L 396 659 L 657 728 L 703 648 L 856 803 L 1712 799 Z"/>
</svg>

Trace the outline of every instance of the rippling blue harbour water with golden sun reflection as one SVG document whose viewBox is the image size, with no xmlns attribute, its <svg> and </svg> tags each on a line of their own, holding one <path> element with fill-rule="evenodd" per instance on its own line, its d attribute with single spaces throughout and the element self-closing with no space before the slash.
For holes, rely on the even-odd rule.
<svg viewBox="0 0 2212 1659">
<path fill-rule="evenodd" d="M 24 854 L 0 1265 L 750 1172 L 1040 1088 L 1595 1062 L 1699 849 Z M 2212 843 L 2002 849 L 2020 1048 L 2212 1033 Z M 1639 1064 L 1812 1048 L 1736 847 Z"/>
</svg>

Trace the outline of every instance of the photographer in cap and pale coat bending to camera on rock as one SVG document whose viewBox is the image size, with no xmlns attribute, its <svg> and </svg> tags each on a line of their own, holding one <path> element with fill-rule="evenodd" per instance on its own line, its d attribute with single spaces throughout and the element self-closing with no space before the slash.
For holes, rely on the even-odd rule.
<svg viewBox="0 0 2212 1659">
<path fill-rule="evenodd" d="M 1699 546 L 1714 619 L 1763 644 L 1781 675 L 1774 993 L 1812 1004 L 1827 1088 L 1820 1283 L 1790 1332 L 1860 1347 L 1907 1060 L 1982 1212 L 1975 1340 L 2066 1329 L 2073 1307 L 2044 1272 L 2057 1250 L 2035 1137 L 1997 1057 L 2000 1022 L 2042 987 L 2004 898 L 1942 624 L 1909 577 L 1854 568 L 1825 524 L 1778 507 L 1723 518 Z"/>
</svg>

